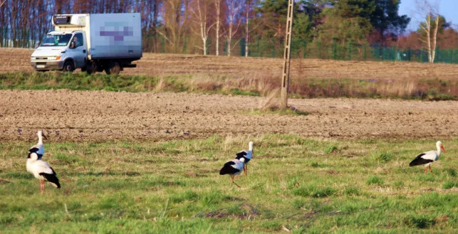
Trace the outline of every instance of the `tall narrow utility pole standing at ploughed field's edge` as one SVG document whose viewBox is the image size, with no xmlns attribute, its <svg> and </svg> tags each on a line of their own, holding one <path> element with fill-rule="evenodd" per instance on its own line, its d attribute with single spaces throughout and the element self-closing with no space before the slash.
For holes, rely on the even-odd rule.
<svg viewBox="0 0 458 234">
<path fill-rule="evenodd" d="M 281 76 L 281 110 L 288 107 L 289 65 L 291 54 L 291 31 L 293 28 L 294 1 L 288 0 L 288 18 L 286 18 L 285 50 L 283 53 L 283 75 Z"/>
</svg>

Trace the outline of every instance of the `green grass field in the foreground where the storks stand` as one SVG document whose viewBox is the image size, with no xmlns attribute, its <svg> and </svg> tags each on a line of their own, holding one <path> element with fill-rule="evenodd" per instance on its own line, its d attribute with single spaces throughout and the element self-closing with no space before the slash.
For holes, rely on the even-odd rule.
<svg viewBox="0 0 458 234">
<path fill-rule="evenodd" d="M 248 177 L 224 162 L 254 141 Z M 0 143 L 0 233 L 458 233 L 458 139 L 294 135 L 46 143 L 62 188 L 26 171 L 36 142 Z"/>
</svg>

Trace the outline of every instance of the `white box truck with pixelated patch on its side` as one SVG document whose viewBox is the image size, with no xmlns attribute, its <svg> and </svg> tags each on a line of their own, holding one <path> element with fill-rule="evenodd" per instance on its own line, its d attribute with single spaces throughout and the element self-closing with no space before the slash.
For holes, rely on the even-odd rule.
<svg viewBox="0 0 458 234">
<path fill-rule="evenodd" d="M 36 70 L 118 74 L 142 58 L 140 13 L 61 14 L 31 55 Z"/>
</svg>

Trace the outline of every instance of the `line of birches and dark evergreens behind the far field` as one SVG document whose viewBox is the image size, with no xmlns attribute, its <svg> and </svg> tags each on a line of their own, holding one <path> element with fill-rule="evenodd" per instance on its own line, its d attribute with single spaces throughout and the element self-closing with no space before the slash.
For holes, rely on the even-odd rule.
<svg viewBox="0 0 458 234">
<path fill-rule="evenodd" d="M 0 4 L 0 46 L 36 46 L 53 29 L 53 14 L 140 12 L 145 51 L 212 55 L 281 51 L 288 5 L 284 0 L 0 0 Z M 363 53 L 362 45 L 425 49 L 428 40 L 435 41 L 433 35 L 437 35 L 434 46 L 457 46 L 457 31 L 431 11 L 425 12 L 417 31 L 405 35 L 410 17 L 398 14 L 399 5 L 393 0 L 296 0 L 292 41 L 303 45 L 296 46 L 302 53 L 304 45 L 353 48 L 352 53 Z M 431 33 L 425 30 L 428 26 Z"/>
</svg>

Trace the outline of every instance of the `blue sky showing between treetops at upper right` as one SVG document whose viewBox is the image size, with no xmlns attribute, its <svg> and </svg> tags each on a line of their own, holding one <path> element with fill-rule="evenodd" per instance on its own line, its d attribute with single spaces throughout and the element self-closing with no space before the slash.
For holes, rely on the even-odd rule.
<svg viewBox="0 0 458 234">
<path fill-rule="evenodd" d="M 410 23 L 407 26 L 407 31 L 415 31 L 420 25 L 420 21 L 425 18 L 418 14 L 416 1 L 423 2 L 425 0 L 400 0 L 399 15 L 409 16 Z M 453 28 L 458 28 L 458 0 L 428 0 L 432 6 L 439 6 L 439 14 L 445 17 L 447 22 L 452 22 Z"/>
</svg>

